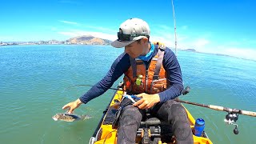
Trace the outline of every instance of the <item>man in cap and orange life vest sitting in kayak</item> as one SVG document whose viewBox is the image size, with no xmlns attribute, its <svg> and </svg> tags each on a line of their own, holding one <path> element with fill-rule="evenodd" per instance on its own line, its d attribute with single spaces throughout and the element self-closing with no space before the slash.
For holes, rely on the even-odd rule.
<svg viewBox="0 0 256 144">
<path fill-rule="evenodd" d="M 69 113 L 72 113 L 82 103 L 86 104 L 102 95 L 125 74 L 123 80 L 126 93 L 136 94 L 141 99 L 122 109 L 118 143 L 135 143 L 145 110 L 170 122 L 177 143 L 194 143 L 186 110 L 173 100 L 183 89 L 182 72 L 174 52 L 161 43 L 154 45 L 150 42 L 150 27 L 139 18 L 123 22 L 118 39 L 111 45 L 125 47 L 125 52 L 118 56 L 100 82 L 62 109 L 69 108 Z"/>
</svg>

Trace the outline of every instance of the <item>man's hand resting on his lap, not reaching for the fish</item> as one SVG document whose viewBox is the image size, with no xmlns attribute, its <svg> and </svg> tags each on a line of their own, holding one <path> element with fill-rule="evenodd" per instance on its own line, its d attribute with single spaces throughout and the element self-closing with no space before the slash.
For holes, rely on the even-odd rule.
<svg viewBox="0 0 256 144">
<path fill-rule="evenodd" d="M 158 94 L 142 93 L 136 96 L 142 98 L 134 103 L 134 106 L 138 106 L 139 109 L 149 109 L 156 103 L 160 102 L 160 97 Z"/>
</svg>

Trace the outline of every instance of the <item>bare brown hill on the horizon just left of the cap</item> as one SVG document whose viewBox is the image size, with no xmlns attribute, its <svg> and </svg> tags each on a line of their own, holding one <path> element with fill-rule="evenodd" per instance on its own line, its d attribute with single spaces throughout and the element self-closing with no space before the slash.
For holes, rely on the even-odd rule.
<svg viewBox="0 0 256 144">
<path fill-rule="evenodd" d="M 92 35 L 82 35 L 67 40 L 71 44 L 82 44 L 82 45 L 110 45 L 111 41 L 102 38 L 96 38 Z"/>
</svg>

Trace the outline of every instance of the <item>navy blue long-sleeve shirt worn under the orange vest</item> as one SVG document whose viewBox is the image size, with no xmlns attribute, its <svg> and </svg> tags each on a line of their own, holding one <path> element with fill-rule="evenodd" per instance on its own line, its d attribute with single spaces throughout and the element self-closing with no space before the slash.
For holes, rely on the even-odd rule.
<svg viewBox="0 0 256 144">
<path fill-rule="evenodd" d="M 154 49 L 153 57 L 157 54 L 158 50 Z M 144 62 L 144 61 L 143 61 Z M 145 62 L 146 66 L 150 64 Z M 166 48 L 162 65 L 167 72 L 167 81 L 170 82 L 170 87 L 167 90 L 164 90 L 159 94 L 160 102 L 166 102 L 167 100 L 178 97 L 181 94 L 183 89 L 182 84 L 182 71 L 178 60 L 172 50 Z M 89 102 L 93 98 L 97 98 L 106 92 L 114 82 L 122 76 L 130 67 L 130 57 L 126 53 L 122 53 L 116 58 L 113 62 L 110 70 L 101 81 L 95 84 L 86 94 L 82 95 L 79 99 L 83 103 Z"/>
</svg>

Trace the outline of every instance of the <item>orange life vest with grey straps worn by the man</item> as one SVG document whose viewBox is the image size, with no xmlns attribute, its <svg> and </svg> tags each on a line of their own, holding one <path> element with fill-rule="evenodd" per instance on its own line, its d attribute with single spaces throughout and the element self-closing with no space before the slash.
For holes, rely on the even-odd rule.
<svg viewBox="0 0 256 144">
<path fill-rule="evenodd" d="M 162 66 L 162 60 L 166 47 L 154 45 L 158 54 L 152 58 L 148 69 L 145 63 L 138 58 L 130 58 L 130 68 L 123 78 L 124 88 L 127 94 L 157 94 L 169 86 L 166 80 L 166 70 Z M 136 84 L 136 79 L 142 75 L 141 84 Z"/>
</svg>

